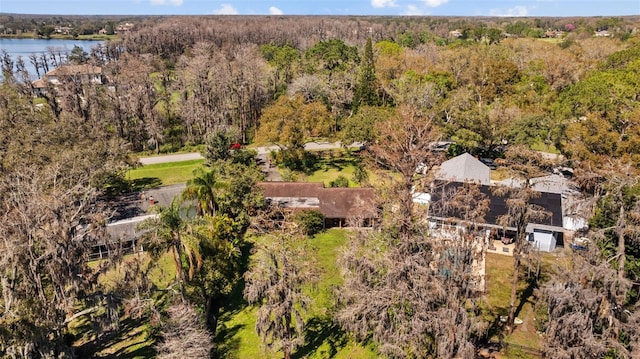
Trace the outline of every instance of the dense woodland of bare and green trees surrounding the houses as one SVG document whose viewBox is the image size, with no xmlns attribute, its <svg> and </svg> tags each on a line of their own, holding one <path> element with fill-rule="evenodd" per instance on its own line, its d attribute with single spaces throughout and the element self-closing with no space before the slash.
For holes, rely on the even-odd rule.
<svg viewBox="0 0 640 359">
<path fill-rule="evenodd" d="M 42 24 L 68 19 L 0 20 L 5 34 L 42 36 Z M 86 32 L 113 33 L 121 20 L 74 19 Z M 229 151 L 277 145 L 277 165 L 305 172 L 310 141 L 366 144 L 361 182 L 380 201 L 374 230 L 349 234 L 333 263 L 341 281 L 311 335 L 339 334 L 334 347 L 373 356 L 473 358 L 514 330 L 523 281 L 541 313 L 543 356 L 640 356 L 640 18 L 126 21 L 135 26 L 91 53 L 74 49 L 68 63 L 0 54 L 2 356 L 92 357 L 131 322 L 152 328 L 150 356 L 232 356 L 221 321 L 250 306 L 259 307 L 261 353 L 335 355 L 305 344 L 302 288 L 320 275 L 305 255 L 313 215 L 269 206 L 254 153 Z M 46 70 L 39 76 L 92 65 L 101 79 L 37 87 L 25 61 Z M 434 150 L 439 141 L 451 143 L 448 152 Z M 185 216 L 178 200 L 158 207 L 145 222 L 144 260 L 88 261 L 113 203 L 135 190 L 126 173 L 136 157 L 195 148 L 207 166 L 182 200 L 197 203 L 196 214 Z M 504 283 L 508 324 L 496 329 L 500 320 L 469 280 L 472 241 L 445 245 L 418 217 L 416 168 L 468 152 L 529 183 L 559 165 L 537 151 L 571 168 L 589 219 L 581 236 L 594 245 L 531 276 L 540 264 L 521 224 L 540 215 L 535 194 L 526 185 L 507 191 L 518 230 L 513 282 Z M 468 227 L 487 206 L 473 186 L 442 201 Z M 260 236 L 270 240 L 252 239 Z M 168 257 L 175 280 L 161 287 L 152 272 Z"/>
</svg>

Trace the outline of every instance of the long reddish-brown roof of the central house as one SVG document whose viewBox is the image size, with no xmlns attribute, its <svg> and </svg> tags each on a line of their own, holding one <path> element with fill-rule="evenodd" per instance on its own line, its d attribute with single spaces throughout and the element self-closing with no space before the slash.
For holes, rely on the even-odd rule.
<svg viewBox="0 0 640 359">
<path fill-rule="evenodd" d="M 326 218 L 377 217 L 373 188 L 324 188 L 321 182 L 261 182 L 265 198 L 288 208 L 316 208 Z"/>
</svg>

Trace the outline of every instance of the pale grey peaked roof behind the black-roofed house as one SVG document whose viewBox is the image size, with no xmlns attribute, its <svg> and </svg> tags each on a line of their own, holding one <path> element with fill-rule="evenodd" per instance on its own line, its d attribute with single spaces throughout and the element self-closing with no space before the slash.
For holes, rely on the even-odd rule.
<svg viewBox="0 0 640 359">
<path fill-rule="evenodd" d="M 453 182 L 474 182 L 482 185 L 489 185 L 490 169 L 484 163 L 468 153 L 454 157 L 442 162 L 438 179 Z"/>
</svg>

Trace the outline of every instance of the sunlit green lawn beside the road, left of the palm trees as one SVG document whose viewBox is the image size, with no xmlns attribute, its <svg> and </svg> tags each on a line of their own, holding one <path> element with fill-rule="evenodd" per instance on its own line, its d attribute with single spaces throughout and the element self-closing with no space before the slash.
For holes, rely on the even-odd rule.
<svg viewBox="0 0 640 359">
<path fill-rule="evenodd" d="M 136 189 L 187 182 L 193 177 L 193 171 L 202 167 L 204 160 L 158 163 L 130 170 L 127 179 Z"/>
</svg>

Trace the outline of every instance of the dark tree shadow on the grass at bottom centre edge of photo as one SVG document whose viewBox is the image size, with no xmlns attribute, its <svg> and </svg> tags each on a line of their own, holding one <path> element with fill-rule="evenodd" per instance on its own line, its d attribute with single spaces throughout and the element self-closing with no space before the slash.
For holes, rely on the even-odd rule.
<svg viewBox="0 0 640 359">
<path fill-rule="evenodd" d="M 291 357 L 294 359 L 305 358 L 311 353 L 317 353 L 318 349 L 327 344 L 326 352 L 322 350 L 322 357 L 332 358 L 338 350 L 347 344 L 347 335 L 329 317 L 310 318 L 304 330 L 305 343 Z"/>
</svg>

